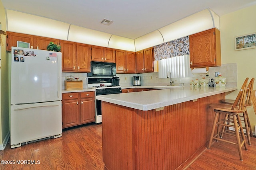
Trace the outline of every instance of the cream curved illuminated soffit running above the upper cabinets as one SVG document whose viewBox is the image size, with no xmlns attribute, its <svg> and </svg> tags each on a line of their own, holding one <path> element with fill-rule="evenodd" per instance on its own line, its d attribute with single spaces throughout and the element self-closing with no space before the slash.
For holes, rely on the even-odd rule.
<svg viewBox="0 0 256 170">
<path fill-rule="evenodd" d="M 140 51 L 213 27 L 220 29 L 219 16 L 209 8 L 136 39 L 120 37 L 8 9 L 6 9 L 6 23 L 7 31 L 51 37 L 126 51 Z"/>
</svg>

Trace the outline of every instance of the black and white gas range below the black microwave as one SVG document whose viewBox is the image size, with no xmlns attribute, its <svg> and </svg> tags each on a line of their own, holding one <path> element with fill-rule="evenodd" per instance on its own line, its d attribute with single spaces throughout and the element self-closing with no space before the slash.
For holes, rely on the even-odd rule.
<svg viewBox="0 0 256 170">
<path fill-rule="evenodd" d="M 113 77 L 88 77 L 87 88 L 95 89 L 96 96 L 104 94 L 118 94 L 122 93 L 121 86 L 119 86 L 119 77 L 112 79 Z M 116 85 L 113 85 L 112 80 Z M 118 83 L 118 85 L 117 85 Z M 95 122 L 102 122 L 102 113 L 101 113 L 101 101 L 96 100 L 96 116 Z"/>
</svg>

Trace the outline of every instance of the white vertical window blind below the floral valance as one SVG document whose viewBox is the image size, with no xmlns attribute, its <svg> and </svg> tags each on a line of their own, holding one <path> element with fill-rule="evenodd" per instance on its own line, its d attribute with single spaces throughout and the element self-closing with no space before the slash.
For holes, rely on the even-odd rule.
<svg viewBox="0 0 256 170">
<path fill-rule="evenodd" d="M 158 78 L 167 78 L 168 71 L 171 72 L 172 78 L 194 77 L 190 69 L 189 55 L 158 61 Z"/>
</svg>

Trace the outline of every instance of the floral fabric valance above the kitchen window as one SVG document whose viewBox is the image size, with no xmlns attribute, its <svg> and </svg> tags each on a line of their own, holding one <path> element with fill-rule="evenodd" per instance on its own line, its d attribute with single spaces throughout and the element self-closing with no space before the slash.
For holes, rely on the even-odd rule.
<svg viewBox="0 0 256 170">
<path fill-rule="evenodd" d="M 189 55 L 188 36 L 154 46 L 155 60 L 168 59 L 185 54 Z"/>
</svg>

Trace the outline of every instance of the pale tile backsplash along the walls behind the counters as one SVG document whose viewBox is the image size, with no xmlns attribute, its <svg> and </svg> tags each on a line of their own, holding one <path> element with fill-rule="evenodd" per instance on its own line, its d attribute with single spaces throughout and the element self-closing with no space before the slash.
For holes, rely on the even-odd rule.
<svg viewBox="0 0 256 170">
<path fill-rule="evenodd" d="M 209 71 L 207 74 L 194 74 L 194 77 L 186 77 L 186 78 L 172 78 L 174 81 L 174 85 L 179 85 L 180 82 L 184 83 L 185 86 L 190 86 L 191 80 L 202 79 L 203 77 L 215 78 L 215 72 L 220 72 L 220 74 L 226 77 L 226 86 L 234 87 L 237 86 L 237 64 L 222 64 L 221 66 L 209 67 Z M 206 76 L 209 75 L 209 76 Z M 64 81 L 68 76 L 76 76 L 79 77 L 79 80 L 83 80 L 84 89 L 87 88 L 87 73 L 77 73 L 77 72 L 62 72 L 62 90 L 65 89 Z M 163 86 L 169 85 L 169 78 L 158 78 L 158 72 L 150 72 L 143 74 L 116 74 L 116 76 L 120 77 L 120 86 L 132 86 L 132 77 L 133 76 L 141 76 L 142 86 Z"/>
</svg>

